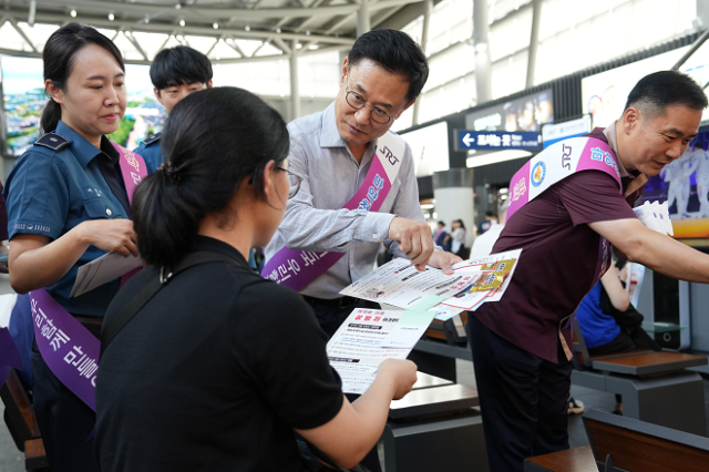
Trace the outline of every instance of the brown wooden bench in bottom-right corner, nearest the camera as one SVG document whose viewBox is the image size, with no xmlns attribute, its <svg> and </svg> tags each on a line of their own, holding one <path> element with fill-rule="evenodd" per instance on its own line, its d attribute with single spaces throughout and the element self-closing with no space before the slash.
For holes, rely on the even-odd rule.
<svg viewBox="0 0 709 472">
<path fill-rule="evenodd" d="M 525 472 L 706 472 L 709 438 L 597 410 L 584 414 L 589 445 L 528 458 Z"/>
</svg>

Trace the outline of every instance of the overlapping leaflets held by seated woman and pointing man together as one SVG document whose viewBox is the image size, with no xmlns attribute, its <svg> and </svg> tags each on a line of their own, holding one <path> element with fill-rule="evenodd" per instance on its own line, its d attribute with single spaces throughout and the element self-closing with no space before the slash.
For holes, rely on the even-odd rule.
<svg viewBox="0 0 709 472">
<path fill-rule="evenodd" d="M 397 258 L 340 294 L 389 304 L 399 310 L 356 309 L 328 342 L 330 365 L 345 393 L 363 393 L 384 359 L 405 359 L 433 318 L 446 320 L 504 295 L 522 249 L 453 266 L 453 275 L 427 267 L 418 271 Z"/>
</svg>

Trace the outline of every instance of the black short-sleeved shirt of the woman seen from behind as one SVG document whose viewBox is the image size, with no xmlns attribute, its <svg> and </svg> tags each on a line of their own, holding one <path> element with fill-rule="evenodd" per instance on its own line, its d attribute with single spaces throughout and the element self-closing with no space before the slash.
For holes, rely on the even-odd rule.
<svg viewBox="0 0 709 472">
<path fill-rule="evenodd" d="M 254 274 L 216 239 L 213 263 L 176 276 L 101 359 L 96 382 L 100 469 L 297 471 L 294 429 L 333 419 L 341 382 L 327 336 L 295 291 Z M 145 284 L 135 276 L 106 314 Z"/>
</svg>

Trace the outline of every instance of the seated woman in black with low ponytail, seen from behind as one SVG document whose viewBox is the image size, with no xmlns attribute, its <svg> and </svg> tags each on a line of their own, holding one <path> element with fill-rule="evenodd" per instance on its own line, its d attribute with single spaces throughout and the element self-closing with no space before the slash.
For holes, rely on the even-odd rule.
<svg viewBox="0 0 709 472">
<path fill-rule="evenodd" d="M 350 403 L 310 306 L 248 267 L 299 189 L 286 124 L 247 91 L 209 89 L 173 109 L 162 143 L 165 163 L 137 187 L 133 212 L 148 265 L 106 312 L 101 470 L 320 470 L 294 430 L 356 466 L 415 366 L 384 361 Z"/>
</svg>

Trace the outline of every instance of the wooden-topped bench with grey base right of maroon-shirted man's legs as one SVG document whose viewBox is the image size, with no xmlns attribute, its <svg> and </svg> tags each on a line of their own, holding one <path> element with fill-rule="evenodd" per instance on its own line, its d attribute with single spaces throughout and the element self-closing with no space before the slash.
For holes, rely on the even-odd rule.
<svg viewBox="0 0 709 472">
<path fill-rule="evenodd" d="M 703 382 L 686 369 L 707 363 L 706 356 L 665 351 L 590 356 L 574 320 L 572 383 L 621 394 L 629 418 L 706 435 Z"/>
</svg>

